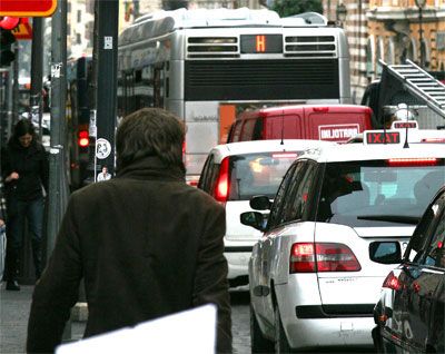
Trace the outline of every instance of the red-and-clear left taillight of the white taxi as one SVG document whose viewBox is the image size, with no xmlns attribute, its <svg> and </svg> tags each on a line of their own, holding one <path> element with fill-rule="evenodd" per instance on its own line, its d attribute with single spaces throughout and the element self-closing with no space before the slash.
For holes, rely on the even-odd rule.
<svg viewBox="0 0 445 354">
<path fill-rule="evenodd" d="M 343 244 L 297 243 L 290 249 L 289 273 L 358 272 L 362 266 L 354 253 Z"/>
</svg>

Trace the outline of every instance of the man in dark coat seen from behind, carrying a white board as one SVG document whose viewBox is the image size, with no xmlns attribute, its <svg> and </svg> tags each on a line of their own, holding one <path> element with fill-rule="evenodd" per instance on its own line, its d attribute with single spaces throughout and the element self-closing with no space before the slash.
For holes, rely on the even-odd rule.
<svg viewBox="0 0 445 354">
<path fill-rule="evenodd" d="M 184 136 L 179 120 L 161 109 L 122 120 L 117 177 L 69 200 L 34 288 L 28 352 L 51 352 L 60 343 L 81 278 L 86 337 L 214 303 L 217 351 L 231 352 L 225 210 L 185 183 Z"/>
</svg>

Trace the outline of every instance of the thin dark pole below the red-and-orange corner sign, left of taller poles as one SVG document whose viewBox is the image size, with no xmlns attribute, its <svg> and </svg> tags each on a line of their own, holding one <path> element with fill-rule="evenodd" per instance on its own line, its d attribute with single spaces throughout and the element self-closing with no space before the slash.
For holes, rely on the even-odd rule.
<svg viewBox="0 0 445 354">
<path fill-rule="evenodd" d="M 43 76 L 43 18 L 32 19 L 31 90 L 29 96 L 30 117 L 39 124 L 39 138 L 42 129 L 42 76 Z"/>
</svg>

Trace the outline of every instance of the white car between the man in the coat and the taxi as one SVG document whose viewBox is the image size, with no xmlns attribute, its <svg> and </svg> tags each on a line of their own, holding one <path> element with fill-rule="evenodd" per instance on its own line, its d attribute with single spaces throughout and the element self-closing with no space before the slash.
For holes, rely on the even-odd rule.
<svg viewBox="0 0 445 354">
<path fill-rule="evenodd" d="M 287 168 L 304 150 L 334 142 L 318 140 L 257 140 L 218 145 L 204 165 L 198 188 L 226 208 L 225 256 L 231 287 L 248 284 L 248 260 L 261 233 L 241 225 L 255 195 L 273 198 Z"/>
</svg>

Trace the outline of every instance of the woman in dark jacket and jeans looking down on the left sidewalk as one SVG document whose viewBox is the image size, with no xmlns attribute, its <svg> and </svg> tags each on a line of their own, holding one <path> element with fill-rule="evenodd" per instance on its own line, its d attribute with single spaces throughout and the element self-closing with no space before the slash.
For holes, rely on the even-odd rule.
<svg viewBox="0 0 445 354">
<path fill-rule="evenodd" d="M 28 119 L 14 126 L 2 156 L 2 174 L 7 199 L 7 291 L 20 291 L 18 273 L 23 246 L 26 222 L 31 237 L 36 278 L 41 274 L 43 228 L 43 189 L 48 191 L 48 157 L 38 142 L 34 127 Z"/>
</svg>

